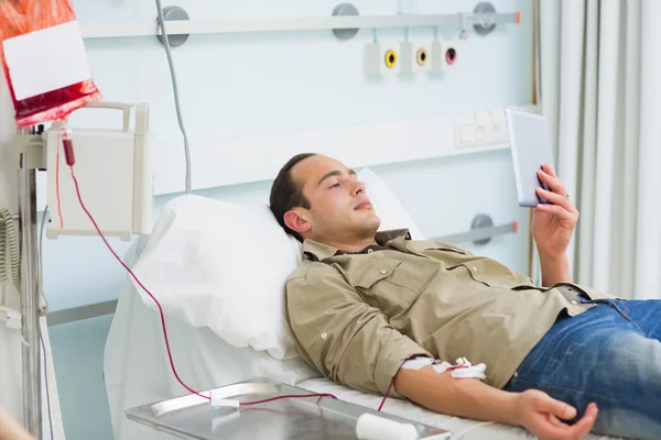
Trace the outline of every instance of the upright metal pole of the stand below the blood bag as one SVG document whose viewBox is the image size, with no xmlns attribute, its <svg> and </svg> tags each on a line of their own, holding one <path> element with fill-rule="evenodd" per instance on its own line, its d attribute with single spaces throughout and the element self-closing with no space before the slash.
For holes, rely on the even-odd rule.
<svg viewBox="0 0 661 440">
<path fill-rule="evenodd" d="M 39 345 L 40 286 L 36 273 L 36 176 L 28 155 L 19 155 L 19 217 L 21 231 L 21 316 L 23 319 L 23 425 L 42 439 L 41 352 Z"/>
</svg>

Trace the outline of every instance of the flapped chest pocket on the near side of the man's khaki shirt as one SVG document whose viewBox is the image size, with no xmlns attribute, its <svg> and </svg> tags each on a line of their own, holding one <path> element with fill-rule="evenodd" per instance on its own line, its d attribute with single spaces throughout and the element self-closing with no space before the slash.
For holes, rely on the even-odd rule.
<svg viewBox="0 0 661 440">
<path fill-rule="evenodd" d="M 409 310 L 437 272 L 433 262 L 381 258 L 367 267 L 355 287 L 370 306 L 392 318 Z"/>
</svg>

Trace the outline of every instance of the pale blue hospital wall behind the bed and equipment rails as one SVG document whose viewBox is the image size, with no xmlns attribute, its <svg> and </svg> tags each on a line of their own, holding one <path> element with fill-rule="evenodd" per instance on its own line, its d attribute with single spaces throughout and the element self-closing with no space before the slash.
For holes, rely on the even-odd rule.
<svg viewBox="0 0 661 440">
<path fill-rule="evenodd" d="M 326 15 L 335 1 L 182 0 L 193 18 Z M 395 0 L 356 1 L 362 14 L 397 12 Z M 420 13 L 470 11 L 477 1 L 419 1 Z M 153 2 L 74 1 L 82 21 L 154 20 Z M 165 3 L 166 6 L 169 3 Z M 530 103 L 532 100 L 531 7 L 525 0 L 494 1 L 497 10 L 521 11 L 522 25 L 487 37 L 472 33 L 460 75 L 366 79 L 364 31 L 338 43 L 328 32 L 269 35 L 198 35 L 175 51 L 183 109 L 191 133 L 241 133 L 264 129 L 347 123 L 386 118 Z M 456 32 L 442 33 L 454 37 Z M 379 32 L 401 40 L 402 31 Z M 431 30 L 411 37 L 430 40 Z M 163 47 L 153 37 L 88 41 L 95 80 L 107 100 L 147 101 L 161 139 L 176 138 L 176 119 Z M 136 58 L 128 61 L 129 56 Z M 204 105 L 201 97 L 205 97 Z M 99 125 L 105 122 L 100 121 Z M 195 145 L 194 145 L 195 148 Z M 518 220 L 519 234 L 487 246 L 466 248 L 527 272 L 528 212 L 516 204 L 509 151 L 372 168 L 383 177 L 427 237 L 466 231 L 473 217 L 496 223 Z M 199 194 L 245 202 L 267 201 L 270 182 L 214 188 Z M 156 197 L 154 215 L 174 195 Z M 212 221 L 209 219 L 209 221 Z M 110 240 L 121 255 L 129 243 Z M 52 310 L 117 298 L 124 278 L 97 238 L 44 242 L 44 283 Z M 110 318 L 57 326 L 51 339 L 67 439 L 111 438 L 102 382 L 102 348 Z"/>
</svg>

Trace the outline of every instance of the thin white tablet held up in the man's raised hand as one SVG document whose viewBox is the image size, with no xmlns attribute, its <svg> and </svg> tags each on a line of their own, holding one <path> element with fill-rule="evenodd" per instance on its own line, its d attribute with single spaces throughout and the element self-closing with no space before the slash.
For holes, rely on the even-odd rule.
<svg viewBox="0 0 661 440">
<path fill-rule="evenodd" d="M 545 117 L 524 111 L 505 109 L 510 150 L 514 165 L 519 206 L 533 208 L 549 204 L 539 197 L 537 188 L 549 189 L 538 177 L 544 164 L 553 166 L 551 132 Z"/>
</svg>

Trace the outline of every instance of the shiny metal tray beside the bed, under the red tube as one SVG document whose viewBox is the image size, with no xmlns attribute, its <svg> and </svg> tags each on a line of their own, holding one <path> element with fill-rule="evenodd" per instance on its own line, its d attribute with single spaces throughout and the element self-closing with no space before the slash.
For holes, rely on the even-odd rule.
<svg viewBox="0 0 661 440">
<path fill-rule="evenodd" d="M 224 386 L 214 393 L 220 398 L 239 402 L 311 394 L 266 378 Z M 366 413 L 411 424 L 418 430 L 420 439 L 449 438 L 449 432 L 445 430 L 330 397 L 280 399 L 240 408 L 214 408 L 209 400 L 187 395 L 131 408 L 126 414 L 131 420 L 185 439 L 307 440 L 357 439 L 356 422 Z"/>
</svg>

